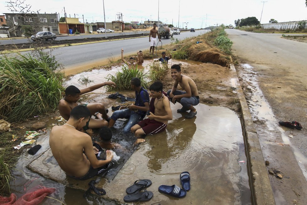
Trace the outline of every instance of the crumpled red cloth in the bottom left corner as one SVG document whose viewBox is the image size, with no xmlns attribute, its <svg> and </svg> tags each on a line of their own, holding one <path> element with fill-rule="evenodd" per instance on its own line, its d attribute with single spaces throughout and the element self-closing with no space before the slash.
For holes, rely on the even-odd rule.
<svg viewBox="0 0 307 205">
<path fill-rule="evenodd" d="M 16 201 L 16 195 L 11 194 L 10 197 L 0 197 L 1 204 L 13 204 L 13 205 L 36 205 L 44 200 L 44 198 L 56 191 L 55 188 L 43 188 L 36 191 L 24 194 Z M 16 202 L 15 202 L 16 201 Z M 7 203 L 3 203 L 7 202 Z"/>
</svg>

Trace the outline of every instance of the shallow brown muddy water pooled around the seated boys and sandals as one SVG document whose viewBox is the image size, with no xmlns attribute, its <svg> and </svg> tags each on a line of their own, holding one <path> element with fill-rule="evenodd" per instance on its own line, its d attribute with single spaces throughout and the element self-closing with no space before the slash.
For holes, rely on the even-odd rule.
<svg viewBox="0 0 307 205">
<path fill-rule="evenodd" d="M 176 63 L 186 64 L 187 62 Z M 97 77 L 98 80 L 114 70 L 117 71 L 117 68 L 109 71 L 93 70 L 84 72 L 83 75 L 87 73 L 91 79 L 101 75 Z M 74 85 L 76 83 L 74 80 L 77 78 L 73 77 L 67 83 Z M 31 162 L 37 161 L 49 150 L 51 127 L 54 124 L 63 124 L 54 119 L 47 122 L 48 133 L 40 135 L 37 139 L 37 144 L 42 145 L 42 148 L 35 156 L 24 153 L 19 158 L 16 170 L 13 172 L 15 180 L 12 181 L 12 192 L 20 197 L 42 186 L 55 187 L 56 192 L 49 197 L 65 204 L 116 204 L 114 201 L 124 203 L 122 198 L 125 195 L 125 189 L 131 183 L 137 179 L 148 178 L 153 181 L 148 191 L 154 193 L 154 198 L 147 202 L 148 204 L 155 202 L 161 202 L 161 204 L 251 204 L 245 146 L 238 116 L 227 108 L 199 104 L 196 106 L 197 116 L 193 119 L 185 119 L 183 114 L 176 113 L 176 110 L 180 108 L 179 103 L 172 104 L 171 108 L 173 120 L 169 121 L 166 131 L 147 136 L 146 141 L 137 147 L 127 163 L 121 164 L 123 167 L 119 173 L 113 173 L 112 176 L 117 174 L 114 179 L 102 178 L 100 187 L 106 190 L 106 196 L 83 197 L 88 181 L 68 179 L 69 185 L 64 185 L 44 178 L 38 173 L 45 172 L 55 178 L 62 175 L 61 172 L 53 169 L 43 168 L 44 163 L 50 163 L 48 161 L 43 160 L 42 168 L 35 172 L 28 169 Z M 113 140 L 121 145 L 121 150 L 116 151 L 119 156 L 123 156 L 124 152 L 134 151 L 131 149 L 133 138 L 123 136 L 120 131 L 124 124 L 124 121 L 117 121 L 113 128 Z M 93 138 L 97 139 L 97 137 Z M 127 138 L 129 140 L 126 140 Z M 158 187 L 162 184 L 180 186 L 178 178 L 182 171 L 189 171 L 191 174 L 191 191 L 184 199 L 177 200 L 158 192 Z M 55 199 L 48 198 L 42 204 L 62 204 Z"/>
</svg>

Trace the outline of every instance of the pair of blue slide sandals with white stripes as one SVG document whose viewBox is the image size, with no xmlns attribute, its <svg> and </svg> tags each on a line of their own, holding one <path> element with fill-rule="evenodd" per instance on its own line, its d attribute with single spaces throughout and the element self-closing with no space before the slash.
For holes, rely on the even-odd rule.
<svg viewBox="0 0 307 205">
<path fill-rule="evenodd" d="M 161 185 L 159 186 L 159 192 L 176 198 L 185 197 L 186 191 L 191 189 L 189 172 L 182 172 L 180 174 L 180 184 L 182 189 L 175 184 L 173 186 Z"/>
</svg>

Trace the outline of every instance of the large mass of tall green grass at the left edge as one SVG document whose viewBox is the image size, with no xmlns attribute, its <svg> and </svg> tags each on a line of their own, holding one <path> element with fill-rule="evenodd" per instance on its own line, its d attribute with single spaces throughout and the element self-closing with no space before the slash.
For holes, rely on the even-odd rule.
<svg viewBox="0 0 307 205">
<path fill-rule="evenodd" d="M 0 118 L 20 122 L 57 109 L 63 76 L 46 58 L 30 54 L 0 58 Z"/>
</svg>

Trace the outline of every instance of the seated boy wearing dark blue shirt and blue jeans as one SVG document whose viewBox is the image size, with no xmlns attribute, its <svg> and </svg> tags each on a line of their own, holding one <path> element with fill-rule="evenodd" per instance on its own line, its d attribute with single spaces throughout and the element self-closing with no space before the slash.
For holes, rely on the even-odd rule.
<svg viewBox="0 0 307 205">
<path fill-rule="evenodd" d="M 131 127 L 141 121 L 149 110 L 149 94 L 147 90 L 141 86 L 141 80 L 132 78 L 130 86 L 135 90 L 135 104 L 122 106 L 120 110 L 116 110 L 112 114 L 108 125 L 108 127 L 112 127 L 119 118 L 129 119 L 124 127 L 124 133 L 129 133 Z"/>
</svg>

